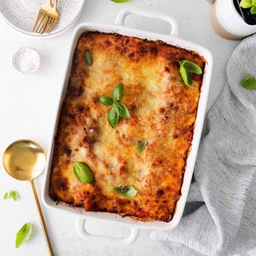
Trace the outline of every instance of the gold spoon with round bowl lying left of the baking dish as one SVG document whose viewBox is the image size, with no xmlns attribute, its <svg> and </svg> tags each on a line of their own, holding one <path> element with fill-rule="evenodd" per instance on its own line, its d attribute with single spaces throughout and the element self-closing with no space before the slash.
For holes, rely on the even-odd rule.
<svg viewBox="0 0 256 256">
<path fill-rule="evenodd" d="M 35 141 L 17 140 L 14 141 L 4 151 L 3 164 L 5 171 L 17 180 L 30 181 L 39 219 L 43 228 L 43 233 L 50 256 L 53 256 L 53 250 L 47 228 L 44 221 L 44 215 L 36 193 L 34 179 L 38 177 L 45 168 L 46 155 L 43 148 Z"/>
</svg>

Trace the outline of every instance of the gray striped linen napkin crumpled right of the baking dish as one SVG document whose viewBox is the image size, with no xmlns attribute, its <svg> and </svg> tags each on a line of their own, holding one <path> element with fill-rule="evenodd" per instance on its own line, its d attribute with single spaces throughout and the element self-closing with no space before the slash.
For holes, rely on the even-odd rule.
<svg viewBox="0 0 256 256">
<path fill-rule="evenodd" d="M 150 234 L 166 255 L 256 255 L 256 91 L 241 86 L 246 76 L 256 77 L 256 34 L 228 61 L 178 227 Z"/>
</svg>

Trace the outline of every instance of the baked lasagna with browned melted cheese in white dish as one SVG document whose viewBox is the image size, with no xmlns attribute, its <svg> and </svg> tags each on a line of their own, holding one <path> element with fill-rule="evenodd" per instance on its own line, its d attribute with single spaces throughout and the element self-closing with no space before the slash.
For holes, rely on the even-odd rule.
<svg viewBox="0 0 256 256">
<path fill-rule="evenodd" d="M 162 41 L 99 32 L 79 38 L 55 135 L 50 176 L 54 200 L 140 221 L 172 220 L 203 78 L 203 73 L 191 74 L 193 87 L 186 86 L 181 60 L 204 70 L 205 60 L 196 52 Z M 113 97 L 119 83 L 130 119 L 119 118 L 113 128 L 107 117 L 111 106 L 102 105 L 99 97 Z M 76 178 L 76 162 L 90 167 L 94 182 Z M 138 193 L 124 197 L 113 190 L 119 186 L 132 186 Z"/>
</svg>

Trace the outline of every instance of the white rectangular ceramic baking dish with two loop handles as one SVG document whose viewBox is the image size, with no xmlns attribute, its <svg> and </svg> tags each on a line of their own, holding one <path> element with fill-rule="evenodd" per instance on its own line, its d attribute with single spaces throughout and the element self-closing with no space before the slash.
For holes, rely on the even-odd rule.
<svg viewBox="0 0 256 256">
<path fill-rule="evenodd" d="M 124 20 L 128 14 L 138 14 L 138 15 L 142 15 L 144 17 L 165 20 L 165 21 L 171 23 L 171 26 L 172 26 L 171 35 L 156 34 L 156 33 L 151 33 L 148 31 L 142 31 L 142 30 L 138 30 L 138 29 L 124 27 Z M 187 159 L 186 171 L 185 171 L 185 175 L 184 175 L 184 179 L 183 179 L 183 185 L 181 188 L 181 197 L 177 203 L 176 211 L 174 213 L 173 219 L 170 222 L 162 222 L 162 221 L 142 222 L 142 221 L 134 221 L 133 219 L 131 219 L 129 217 L 122 218 L 118 214 L 114 214 L 114 213 L 89 212 L 89 211 L 86 212 L 81 207 L 76 207 L 76 208 L 69 207 L 67 204 L 65 204 L 63 202 L 59 202 L 59 204 L 57 205 L 56 202 L 54 202 L 49 196 L 49 177 L 50 177 L 50 172 L 51 172 L 51 161 L 52 161 L 52 154 L 53 154 L 53 148 L 54 148 L 54 136 L 55 136 L 55 132 L 57 131 L 57 127 L 58 127 L 59 113 L 61 110 L 62 102 L 63 102 L 63 100 L 65 98 L 65 94 L 66 94 L 66 89 L 67 89 L 67 85 L 68 85 L 68 81 L 69 81 L 74 50 L 77 45 L 77 41 L 78 41 L 79 37 L 85 31 L 100 31 L 103 33 L 117 33 L 117 34 L 121 34 L 121 35 L 125 35 L 125 36 L 133 36 L 133 37 L 138 37 L 138 38 L 142 38 L 142 39 L 146 38 L 148 40 L 153 40 L 153 41 L 161 40 L 168 44 L 177 45 L 181 48 L 185 48 L 188 50 L 193 50 L 195 52 L 198 52 L 199 55 L 202 55 L 206 60 L 206 66 L 205 66 L 205 71 L 204 71 L 204 76 L 203 76 L 203 85 L 202 85 L 201 96 L 200 96 L 199 104 L 198 104 L 194 136 L 193 136 L 193 141 L 192 141 L 192 145 L 191 145 L 191 150 L 190 150 L 190 153 L 189 153 L 189 156 Z M 131 244 L 137 238 L 137 236 L 139 234 L 139 229 L 169 230 L 169 229 L 172 229 L 175 226 L 177 226 L 182 217 L 183 209 L 185 207 L 185 203 L 186 203 L 186 199 L 187 199 L 187 195 L 188 195 L 188 191 L 189 191 L 191 178 L 193 175 L 193 170 L 194 170 L 194 165 L 195 165 L 196 155 L 197 155 L 197 149 L 198 149 L 199 141 L 201 138 L 201 132 L 202 132 L 202 127 L 203 127 L 203 123 L 204 123 L 206 103 L 207 103 L 211 75 L 212 75 L 213 58 L 212 58 L 212 54 L 210 53 L 209 50 L 207 50 L 204 47 L 199 46 L 197 44 L 185 41 L 185 40 L 179 38 L 178 35 L 179 35 L 179 29 L 178 29 L 177 22 L 170 15 L 168 15 L 166 13 L 158 12 L 158 11 L 145 10 L 145 9 L 139 9 L 139 8 L 123 9 L 121 12 L 119 12 L 119 14 L 116 18 L 116 21 L 115 21 L 115 25 L 110 26 L 110 25 L 100 25 L 100 24 L 96 24 L 96 23 L 83 23 L 83 24 L 79 25 L 74 31 L 73 37 L 71 38 L 71 46 L 70 46 L 70 50 L 68 53 L 69 57 L 68 57 L 68 62 L 67 62 L 67 66 L 66 66 L 66 71 L 65 71 L 65 74 L 63 77 L 62 90 L 60 93 L 60 97 L 58 99 L 59 107 L 56 111 L 55 122 L 53 125 L 51 139 L 50 139 L 50 145 L 49 145 L 49 150 L 48 150 L 48 155 L 47 155 L 46 170 L 45 170 L 45 174 L 44 174 L 42 199 L 43 199 L 43 203 L 46 207 L 49 207 L 52 209 L 59 209 L 59 210 L 65 211 L 65 212 L 70 212 L 71 214 L 74 214 L 77 217 L 79 217 L 80 219 L 77 220 L 77 231 L 78 231 L 78 234 L 81 237 L 83 237 L 84 239 L 86 239 L 87 241 L 99 242 L 99 238 L 100 238 L 101 242 L 104 241 L 108 244 L 114 244 L 114 245 Z M 121 239 L 92 235 L 92 234 L 89 234 L 86 232 L 85 225 L 84 225 L 85 220 L 82 220 L 81 218 L 83 218 L 83 219 L 97 218 L 97 219 L 114 221 L 117 223 L 121 223 L 122 225 L 130 226 L 132 231 L 131 231 L 131 234 L 129 237 L 121 238 Z M 118 242 L 117 242 L 117 240 L 118 240 Z"/>
</svg>

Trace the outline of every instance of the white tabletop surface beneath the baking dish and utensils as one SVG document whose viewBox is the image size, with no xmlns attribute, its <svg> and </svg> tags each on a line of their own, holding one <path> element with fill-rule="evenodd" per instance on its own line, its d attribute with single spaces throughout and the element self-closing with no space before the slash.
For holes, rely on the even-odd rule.
<svg viewBox="0 0 256 256">
<path fill-rule="evenodd" d="M 44 1 L 45 2 L 45 1 Z M 81 22 L 113 24 L 117 13 L 125 6 L 141 6 L 172 14 L 180 26 L 180 36 L 188 41 L 207 47 L 214 57 L 213 77 L 208 108 L 220 94 L 226 81 L 226 63 L 238 41 L 220 38 L 212 30 L 209 19 L 210 4 L 205 0 L 131 0 L 115 4 L 109 0 L 85 0 L 84 10 L 76 25 Z M 168 34 L 170 25 L 164 21 L 137 16 L 126 19 L 126 26 Z M 76 26 L 75 25 L 75 26 Z M 27 37 L 11 29 L 0 20 L 0 156 L 14 140 L 28 138 L 41 143 L 47 150 L 53 122 L 53 114 L 60 93 L 61 77 L 73 26 L 65 34 L 49 39 Z M 12 66 L 12 55 L 21 46 L 34 47 L 41 54 L 42 66 L 38 73 L 27 77 Z M 2 162 L 2 161 L 1 161 Z M 41 193 L 42 177 L 36 180 Z M 3 200 L 5 191 L 15 189 L 20 198 L 17 202 Z M 0 255 L 47 255 L 47 249 L 39 224 L 34 198 L 28 182 L 9 177 L 0 166 Z M 142 230 L 138 240 L 129 247 L 111 248 L 101 244 L 84 242 L 77 236 L 75 219 L 58 211 L 43 211 L 55 255 L 163 255 L 157 242 L 149 240 L 149 231 Z M 15 249 L 15 235 L 25 222 L 34 226 L 32 238 Z M 116 237 L 129 232 L 128 228 L 109 225 L 102 221 L 89 221 L 89 229 L 95 234 Z"/>
</svg>

